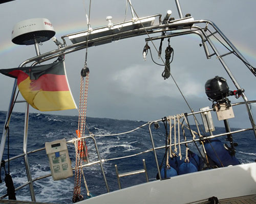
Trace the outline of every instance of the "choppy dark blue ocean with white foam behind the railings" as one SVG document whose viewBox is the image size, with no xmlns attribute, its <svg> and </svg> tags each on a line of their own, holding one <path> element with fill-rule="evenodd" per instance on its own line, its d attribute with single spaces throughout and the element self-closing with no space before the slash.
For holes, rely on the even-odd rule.
<svg viewBox="0 0 256 204">
<path fill-rule="evenodd" d="M 0 111 L 0 128 L 3 130 L 5 123 L 6 112 Z M 10 123 L 10 157 L 23 153 L 23 132 L 24 132 L 24 114 L 13 113 Z M 138 126 L 145 124 L 144 121 L 133 120 L 117 120 L 108 118 L 92 118 L 86 119 L 90 132 L 95 135 L 98 134 L 114 134 L 121 133 L 135 129 Z M 29 116 L 29 134 L 28 134 L 28 151 L 45 147 L 45 142 L 51 142 L 54 140 L 66 138 L 67 141 L 76 137 L 75 131 L 77 130 L 78 117 L 76 116 L 60 116 L 60 115 L 48 115 L 41 113 L 31 113 Z M 193 125 L 192 125 L 193 126 Z M 193 126 L 195 128 L 195 126 Z M 231 129 L 236 130 L 236 129 Z M 224 127 L 216 127 L 215 134 L 224 132 Z M 1 131 L 2 132 L 2 131 Z M 165 145 L 165 129 L 164 124 L 160 122 L 160 128 L 155 130 L 152 127 L 152 133 L 154 136 L 155 146 Z M 2 134 L 1 134 L 2 135 Z M 187 139 L 191 139 L 188 132 L 186 132 Z M 119 136 L 108 137 L 95 137 L 100 152 L 101 159 L 110 159 L 121 156 L 128 156 L 137 154 L 138 152 L 145 151 L 152 148 L 152 142 L 150 134 L 148 133 L 148 127 L 144 126 L 132 133 Z M 233 134 L 234 142 L 238 143 L 236 147 L 236 157 L 241 163 L 254 162 L 256 159 L 255 151 L 255 138 L 252 132 L 245 132 L 239 134 Z M 223 142 L 228 143 L 225 139 Z M 92 139 L 86 140 L 90 161 L 97 161 L 97 153 L 95 151 L 94 142 Z M 6 142 L 7 147 L 7 142 Z M 72 166 L 75 165 L 75 151 L 72 143 L 68 144 L 69 155 L 71 158 Z M 189 148 L 197 153 L 197 149 L 193 144 L 189 145 Z M 185 151 L 184 145 L 182 146 L 182 152 Z M 164 149 L 157 150 L 158 161 L 161 163 L 164 155 Z M 183 153 L 184 157 L 184 153 Z M 4 152 L 3 159 L 7 159 L 7 148 Z M 128 159 L 111 160 L 103 162 L 103 168 L 106 175 L 106 180 L 110 191 L 118 190 L 118 182 L 115 171 L 115 164 L 118 166 L 120 173 L 133 171 L 143 168 L 142 159 L 145 159 L 148 177 L 150 181 L 156 179 L 157 169 L 156 162 L 154 160 L 153 152 L 147 152 Z M 39 176 L 49 174 L 50 167 L 49 161 L 45 150 L 33 153 L 29 155 L 29 165 L 32 174 L 32 179 Z M 6 169 L 8 169 L 6 164 Z M 10 172 L 14 182 L 14 187 L 27 182 L 27 175 L 25 169 L 25 163 L 23 158 L 10 162 Z M 93 195 L 99 195 L 106 193 L 105 183 L 101 174 L 99 164 L 95 164 L 84 168 L 84 174 L 89 187 L 90 192 Z M 1 171 L 1 178 L 4 181 L 4 169 Z M 122 188 L 129 187 L 135 184 L 144 183 L 145 175 L 138 174 L 132 176 L 126 176 L 121 178 Z M 82 194 L 86 195 L 86 189 L 83 182 L 81 183 Z M 66 180 L 53 181 L 52 177 L 34 182 L 34 190 L 36 201 L 52 202 L 52 203 L 72 203 L 74 188 L 74 176 L 69 177 Z M 0 184 L 1 196 L 6 194 L 6 186 L 3 182 Z M 18 190 L 16 192 L 16 198 L 18 200 L 30 200 L 29 187 Z"/>
</svg>

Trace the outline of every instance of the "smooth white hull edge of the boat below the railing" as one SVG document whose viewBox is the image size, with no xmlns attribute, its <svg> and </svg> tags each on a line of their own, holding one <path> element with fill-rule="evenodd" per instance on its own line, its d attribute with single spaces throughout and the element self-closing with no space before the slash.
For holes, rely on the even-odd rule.
<svg viewBox="0 0 256 204">
<path fill-rule="evenodd" d="M 256 194 L 256 163 L 211 169 L 145 183 L 79 203 L 189 203 Z"/>
</svg>

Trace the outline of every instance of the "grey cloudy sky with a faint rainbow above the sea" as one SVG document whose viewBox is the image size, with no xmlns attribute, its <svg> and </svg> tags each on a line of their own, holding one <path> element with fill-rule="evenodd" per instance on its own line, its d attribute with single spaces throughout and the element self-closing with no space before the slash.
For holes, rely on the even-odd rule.
<svg viewBox="0 0 256 204">
<path fill-rule="evenodd" d="M 179 18 L 174 0 L 133 0 L 132 4 L 139 17 L 153 14 L 165 16 L 172 10 L 172 17 Z M 229 40 L 240 50 L 241 54 L 252 66 L 256 66 L 256 1 L 254 0 L 180 0 L 183 15 L 190 13 L 195 19 L 208 19 L 219 27 Z M 106 16 L 112 16 L 112 22 L 130 20 L 131 12 L 127 10 L 125 17 L 125 0 L 93 0 L 91 4 L 90 22 L 92 28 L 108 24 Z M 88 0 L 16 0 L 1 4 L 0 21 L 0 68 L 17 67 L 20 63 L 34 57 L 33 45 L 15 45 L 11 42 L 13 25 L 30 18 L 47 18 L 56 31 L 55 37 L 87 30 L 86 13 L 89 13 Z M 161 34 L 158 34 L 161 35 Z M 163 67 L 154 64 L 147 55 L 143 60 L 142 51 L 147 36 L 124 39 L 102 46 L 88 49 L 88 66 L 90 68 L 87 116 L 100 118 L 155 120 L 164 116 L 189 112 L 172 79 L 163 80 Z M 159 41 L 155 41 L 159 47 Z M 202 107 L 211 107 L 211 102 L 204 92 L 208 79 L 220 75 L 227 79 L 230 90 L 236 89 L 228 79 L 221 64 L 212 57 L 207 60 L 201 39 L 196 35 L 175 37 L 170 39 L 174 48 L 174 60 L 171 66 L 173 77 L 186 97 L 190 107 L 197 111 Z M 71 42 L 68 42 L 71 44 Z M 158 62 L 153 45 L 153 58 Z M 163 42 L 163 53 L 167 40 Z M 51 41 L 43 43 L 40 52 L 46 53 L 57 48 Z M 221 49 L 222 50 L 222 49 Z M 71 91 L 78 105 L 80 70 L 83 67 L 86 50 L 66 55 L 66 69 Z M 164 55 L 162 55 L 164 58 Z M 227 62 L 234 76 L 245 89 L 249 100 L 253 99 L 255 77 L 235 57 L 227 57 Z M 0 75 L 0 110 L 8 110 L 13 79 Z M 234 99 L 232 102 L 241 101 Z M 236 127 L 248 126 L 244 109 L 234 108 L 242 117 L 230 119 Z M 253 109 L 253 106 L 252 106 Z M 14 111 L 24 111 L 24 104 L 15 105 Z M 38 112 L 30 108 L 31 112 Z M 78 115 L 77 110 L 45 112 L 49 114 Z M 236 112 L 235 112 L 236 115 Z M 216 116 L 215 116 L 216 117 Z M 216 121 L 216 126 L 222 126 Z"/>
</svg>

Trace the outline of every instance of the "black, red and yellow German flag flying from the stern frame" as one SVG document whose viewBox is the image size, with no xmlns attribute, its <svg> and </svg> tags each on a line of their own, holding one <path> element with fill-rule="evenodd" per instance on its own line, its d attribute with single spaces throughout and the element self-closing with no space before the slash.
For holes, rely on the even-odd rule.
<svg viewBox="0 0 256 204">
<path fill-rule="evenodd" d="M 20 93 L 39 111 L 77 109 L 63 61 L 33 67 L 0 69 L 0 73 L 16 78 Z"/>
</svg>

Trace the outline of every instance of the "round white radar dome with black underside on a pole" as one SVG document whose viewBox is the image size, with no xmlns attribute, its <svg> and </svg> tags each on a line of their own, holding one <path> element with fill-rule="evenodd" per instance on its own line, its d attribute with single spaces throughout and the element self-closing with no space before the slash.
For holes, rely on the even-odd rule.
<svg viewBox="0 0 256 204">
<path fill-rule="evenodd" d="M 55 35 L 52 23 L 47 18 L 31 18 L 16 23 L 12 30 L 12 42 L 31 45 L 45 42 Z"/>
</svg>

